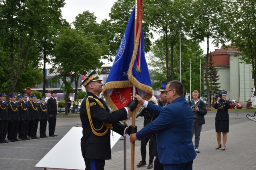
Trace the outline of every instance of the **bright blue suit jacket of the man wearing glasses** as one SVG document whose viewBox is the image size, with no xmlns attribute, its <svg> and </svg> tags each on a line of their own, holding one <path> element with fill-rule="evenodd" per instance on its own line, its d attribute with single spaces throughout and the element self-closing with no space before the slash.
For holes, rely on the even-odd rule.
<svg viewBox="0 0 256 170">
<path fill-rule="evenodd" d="M 136 137 L 141 140 L 156 133 L 160 163 L 182 164 L 196 158 L 192 142 L 194 114 L 184 96 L 178 97 L 162 109 L 153 104 L 148 104 L 147 109 L 160 114 L 141 129 Z"/>
</svg>

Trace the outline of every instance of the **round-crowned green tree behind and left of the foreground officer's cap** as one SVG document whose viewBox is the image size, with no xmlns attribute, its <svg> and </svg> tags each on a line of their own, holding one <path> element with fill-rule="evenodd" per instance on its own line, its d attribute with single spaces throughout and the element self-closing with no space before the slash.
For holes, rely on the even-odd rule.
<svg viewBox="0 0 256 170">
<path fill-rule="evenodd" d="M 70 28 L 64 29 L 55 42 L 55 58 L 50 72 L 59 73 L 58 77 L 63 81 L 67 102 L 68 96 L 73 92 L 71 83 L 75 82 L 74 98 L 77 98 L 80 75 L 86 75 L 90 70 L 102 64 L 100 62 L 102 50 L 97 42 L 82 36 L 80 31 Z M 65 114 L 68 115 L 67 108 Z"/>
</svg>

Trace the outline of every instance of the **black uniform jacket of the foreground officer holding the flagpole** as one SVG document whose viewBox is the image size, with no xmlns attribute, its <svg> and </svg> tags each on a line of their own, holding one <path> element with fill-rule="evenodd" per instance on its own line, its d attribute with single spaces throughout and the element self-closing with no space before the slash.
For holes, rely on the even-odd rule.
<svg viewBox="0 0 256 170">
<path fill-rule="evenodd" d="M 88 96 L 92 96 L 93 98 L 88 98 Z M 87 98 L 90 106 L 86 106 Z M 94 98 L 100 100 L 105 108 L 100 107 Z M 122 108 L 110 113 L 106 103 L 90 92 L 87 92 L 81 104 L 80 119 L 83 127 L 81 150 L 83 157 L 89 159 L 111 159 L 110 129 L 108 129 L 108 132 L 103 136 L 94 135 L 89 123 L 86 107 L 90 108 L 90 116 L 95 129 L 100 129 L 104 122 L 111 123 L 113 126 L 113 131 L 119 133 L 120 135 L 124 135 L 124 129 L 126 128 L 125 125 L 119 122 L 127 119 L 126 109 Z M 106 131 L 106 126 L 103 126 L 102 130 L 97 132 L 103 133 L 104 131 Z"/>
</svg>

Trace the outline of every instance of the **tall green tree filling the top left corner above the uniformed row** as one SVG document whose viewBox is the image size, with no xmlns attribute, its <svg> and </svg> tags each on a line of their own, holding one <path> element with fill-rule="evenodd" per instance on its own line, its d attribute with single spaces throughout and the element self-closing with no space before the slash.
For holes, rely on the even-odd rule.
<svg viewBox="0 0 256 170">
<path fill-rule="evenodd" d="M 8 80 L 2 88 L 7 94 L 15 91 L 27 63 L 38 61 L 35 39 L 47 29 L 54 10 L 63 0 L 0 0 L 0 46 L 4 58 Z M 34 69 L 34 67 L 32 67 Z M 37 66 L 35 67 L 37 68 Z"/>
</svg>

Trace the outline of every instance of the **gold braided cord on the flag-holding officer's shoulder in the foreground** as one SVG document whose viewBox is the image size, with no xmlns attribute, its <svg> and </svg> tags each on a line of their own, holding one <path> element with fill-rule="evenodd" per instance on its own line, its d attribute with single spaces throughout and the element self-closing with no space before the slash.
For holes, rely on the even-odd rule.
<svg viewBox="0 0 256 170">
<path fill-rule="evenodd" d="M 88 98 L 93 98 L 93 97 L 92 97 L 92 96 L 88 96 Z M 86 111 L 87 111 L 87 115 L 88 115 L 88 119 L 89 119 L 89 122 L 90 122 L 91 129 L 92 129 L 92 133 L 93 133 L 94 135 L 96 135 L 96 136 L 104 136 L 104 135 L 106 135 L 106 133 L 108 133 L 108 129 L 111 129 L 111 130 L 113 131 L 112 124 L 110 124 L 110 123 L 105 123 L 105 122 L 103 122 L 103 123 L 102 123 L 102 127 L 101 127 L 100 129 L 96 129 L 96 128 L 94 127 L 94 125 L 93 125 L 93 123 L 92 123 L 92 117 L 91 117 L 91 113 L 90 113 L 90 107 L 93 106 L 93 105 L 95 105 L 95 103 L 90 103 L 90 104 L 89 104 L 89 99 L 88 99 L 88 98 L 86 99 Z M 94 100 L 96 100 L 96 102 L 98 103 L 98 105 L 99 105 L 100 107 L 104 108 L 104 106 L 102 105 L 102 103 L 101 103 L 98 99 L 94 98 Z M 96 131 L 100 131 L 104 126 L 106 127 L 106 131 L 104 131 L 103 133 L 98 133 L 98 132 L 96 132 Z M 112 134 L 113 134 L 113 133 L 112 133 Z"/>
</svg>

